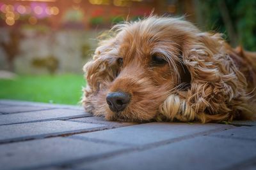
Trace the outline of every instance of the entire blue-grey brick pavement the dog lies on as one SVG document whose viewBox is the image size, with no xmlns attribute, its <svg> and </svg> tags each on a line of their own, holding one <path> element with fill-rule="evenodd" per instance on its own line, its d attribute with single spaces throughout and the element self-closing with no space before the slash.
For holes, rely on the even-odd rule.
<svg viewBox="0 0 256 170">
<path fill-rule="evenodd" d="M 80 106 L 0 100 L 0 169 L 256 169 L 256 122 L 108 122 Z"/>
</svg>

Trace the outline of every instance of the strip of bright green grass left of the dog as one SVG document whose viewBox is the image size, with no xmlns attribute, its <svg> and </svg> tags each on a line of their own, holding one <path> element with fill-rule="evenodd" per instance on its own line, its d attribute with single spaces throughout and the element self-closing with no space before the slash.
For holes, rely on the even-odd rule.
<svg viewBox="0 0 256 170">
<path fill-rule="evenodd" d="M 83 75 L 76 74 L 18 76 L 0 80 L 0 99 L 77 104 L 84 85 Z"/>
</svg>

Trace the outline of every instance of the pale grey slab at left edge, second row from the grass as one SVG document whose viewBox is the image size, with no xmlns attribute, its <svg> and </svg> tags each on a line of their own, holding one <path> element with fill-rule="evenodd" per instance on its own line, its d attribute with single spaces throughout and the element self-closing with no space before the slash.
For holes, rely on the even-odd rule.
<svg viewBox="0 0 256 170">
<path fill-rule="evenodd" d="M 44 120 L 66 120 L 68 118 L 90 117 L 90 113 L 82 110 L 53 109 L 42 111 L 29 111 L 0 116 L 0 125 L 17 124 L 24 122 L 36 122 Z"/>
</svg>

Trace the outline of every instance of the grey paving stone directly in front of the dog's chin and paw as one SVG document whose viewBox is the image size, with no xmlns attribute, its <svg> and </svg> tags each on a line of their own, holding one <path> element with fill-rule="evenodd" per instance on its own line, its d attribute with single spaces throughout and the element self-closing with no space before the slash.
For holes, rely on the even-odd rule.
<svg viewBox="0 0 256 170">
<path fill-rule="evenodd" d="M 145 145 L 178 139 L 186 136 L 193 136 L 198 133 L 209 131 L 225 130 L 233 128 L 232 125 L 221 124 L 182 124 L 182 123 L 149 123 L 109 129 L 86 134 L 77 134 L 84 139 L 97 139 L 104 141 L 113 141 L 115 143 L 124 143 L 130 145 Z"/>
</svg>

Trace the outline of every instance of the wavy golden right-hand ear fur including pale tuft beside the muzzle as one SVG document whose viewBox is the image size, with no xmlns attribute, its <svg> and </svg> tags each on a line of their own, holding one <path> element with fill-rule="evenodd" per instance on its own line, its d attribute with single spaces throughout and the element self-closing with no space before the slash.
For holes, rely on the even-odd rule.
<svg viewBox="0 0 256 170">
<path fill-rule="evenodd" d="M 172 94 L 160 106 L 161 114 L 182 122 L 220 122 L 250 114 L 246 78 L 225 50 L 221 34 L 198 33 L 184 47 L 183 62 L 191 74 L 186 96 Z"/>
</svg>

